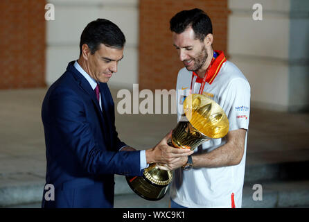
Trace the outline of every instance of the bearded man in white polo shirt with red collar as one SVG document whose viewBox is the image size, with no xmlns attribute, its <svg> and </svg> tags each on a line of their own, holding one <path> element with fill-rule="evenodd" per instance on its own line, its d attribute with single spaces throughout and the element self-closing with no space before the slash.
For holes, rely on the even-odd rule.
<svg viewBox="0 0 309 222">
<path fill-rule="evenodd" d="M 213 50 L 211 19 L 200 9 L 170 19 L 173 43 L 184 63 L 177 77 L 177 113 L 188 94 L 204 94 L 229 118 L 229 133 L 195 148 L 186 167 L 175 170 L 171 207 L 241 207 L 249 126 L 250 86 L 242 72 Z M 182 96 L 182 95 L 184 96 Z M 173 169 L 171 169 L 173 170 Z"/>
</svg>

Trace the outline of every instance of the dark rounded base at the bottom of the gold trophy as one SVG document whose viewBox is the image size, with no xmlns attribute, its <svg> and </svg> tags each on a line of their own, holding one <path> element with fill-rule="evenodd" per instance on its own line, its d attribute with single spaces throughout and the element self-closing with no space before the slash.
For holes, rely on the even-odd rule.
<svg viewBox="0 0 309 222">
<path fill-rule="evenodd" d="M 168 185 L 156 185 L 145 176 L 126 176 L 127 184 L 141 198 L 146 200 L 161 200 L 166 195 Z"/>
</svg>

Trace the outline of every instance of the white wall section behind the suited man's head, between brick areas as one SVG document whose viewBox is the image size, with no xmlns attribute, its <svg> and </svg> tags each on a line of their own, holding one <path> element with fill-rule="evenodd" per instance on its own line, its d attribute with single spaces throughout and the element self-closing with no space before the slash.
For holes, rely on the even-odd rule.
<svg viewBox="0 0 309 222">
<path fill-rule="evenodd" d="M 46 84 L 51 85 L 78 59 L 82 30 L 97 18 L 109 19 L 121 28 L 127 43 L 118 73 L 109 84 L 132 88 L 138 83 L 138 0 L 52 0 L 55 20 L 46 22 Z"/>
</svg>

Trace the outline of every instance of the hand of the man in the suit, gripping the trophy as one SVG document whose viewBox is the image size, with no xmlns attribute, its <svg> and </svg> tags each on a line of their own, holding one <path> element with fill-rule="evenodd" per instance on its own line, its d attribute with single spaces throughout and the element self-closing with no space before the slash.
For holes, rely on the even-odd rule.
<svg viewBox="0 0 309 222">
<path fill-rule="evenodd" d="M 170 131 L 157 146 L 145 151 L 148 164 L 157 162 L 159 164 L 166 164 L 169 168 L 177 168 L 186 163 L 187 156 L 191 155 L 193 151 L 190 151 L 190 149 L 168 146 L 167 142 L 171 136 L 172 131 Z"/>
</svg>

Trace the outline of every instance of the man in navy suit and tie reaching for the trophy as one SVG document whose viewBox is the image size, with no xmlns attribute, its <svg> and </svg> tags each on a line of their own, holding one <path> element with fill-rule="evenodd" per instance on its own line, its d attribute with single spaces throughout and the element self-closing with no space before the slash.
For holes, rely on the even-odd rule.
<svg viewBox="0 0 309 222">
<path fill-rule="evenodd" d="M 107 82 L 123 58 L 125 36 L 116 24 L 97 19 L 80 37 L 80 57 L 51 85 L 42 105 L 46 184 L 54 200 L 42 207 L 113 207 L 114 174 L 141 176 L 152 162 L 182 166 L 192 152 L 167 145 L 145 151 L 118 139 L 114 101 Z"/>
</svg>

